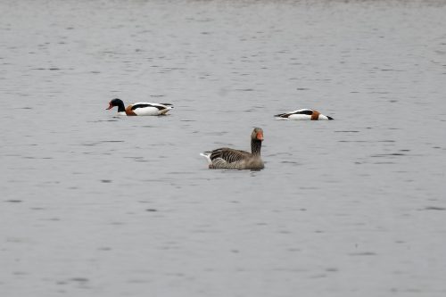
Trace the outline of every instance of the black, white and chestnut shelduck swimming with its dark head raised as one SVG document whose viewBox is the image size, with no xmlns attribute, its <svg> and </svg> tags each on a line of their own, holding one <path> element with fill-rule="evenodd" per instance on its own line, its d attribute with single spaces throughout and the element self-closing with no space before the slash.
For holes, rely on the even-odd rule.
<svg viewBox="0 0 446 297">
<path fill-rule="evenodd" d="M 107 110 L 111 110 L 114 106 L 118 106 L 119 115 L 143 116 L 143 115 L 161 115 L 165 114 L 173 108 L 170 103 L 133 103 L 125 107 L 119 98 L 111 100 Z"/>
</svg>

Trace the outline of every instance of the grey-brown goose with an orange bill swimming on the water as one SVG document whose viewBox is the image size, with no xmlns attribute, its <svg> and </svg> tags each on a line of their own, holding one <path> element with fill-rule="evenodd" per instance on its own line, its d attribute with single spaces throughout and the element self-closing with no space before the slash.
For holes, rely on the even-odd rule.
<svg viewBox="0 0 446 297">
<path fill-rule="evenodd" d="M 223 147 L 200 153 L 209 162 L 210 169 L 263 169 L 260 157 L 263 130 L 254 128 L 251 134 L 251 153 Z"/>
</svg>

